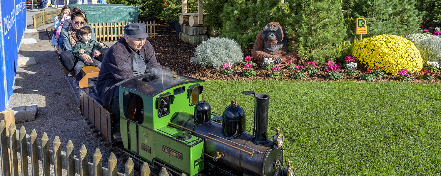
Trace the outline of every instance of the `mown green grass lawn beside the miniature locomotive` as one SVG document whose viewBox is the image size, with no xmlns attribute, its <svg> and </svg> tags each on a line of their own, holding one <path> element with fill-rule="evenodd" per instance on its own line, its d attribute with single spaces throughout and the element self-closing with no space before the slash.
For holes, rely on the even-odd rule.
<svg viewBox="0 0 441 176">
<path fill-rule="evenodd" d="M 253 128 L 254 96 L 270 95 L 269 136 L 280 127 L 297 176 L 441 175 L 441 84 L 206 81 L 222 114 L 233 99 Z"/>
</svg>

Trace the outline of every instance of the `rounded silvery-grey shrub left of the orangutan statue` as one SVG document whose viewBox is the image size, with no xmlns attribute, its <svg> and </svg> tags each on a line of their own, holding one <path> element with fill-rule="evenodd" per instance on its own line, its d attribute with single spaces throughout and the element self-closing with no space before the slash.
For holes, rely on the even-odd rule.
<svg viewBox="0 0 441 176">
<path fill-rule="evenodd" d="M 243 51 L 239 44 L 225 37 L 210 37 L 208 40 L 202 41 L 196 47 L 194 55 L 190 61 L 199 63 L 204 68 L 212 66 L 220 69 L 224 63 L 234 65 L 243 59 Z"/>
</svg>

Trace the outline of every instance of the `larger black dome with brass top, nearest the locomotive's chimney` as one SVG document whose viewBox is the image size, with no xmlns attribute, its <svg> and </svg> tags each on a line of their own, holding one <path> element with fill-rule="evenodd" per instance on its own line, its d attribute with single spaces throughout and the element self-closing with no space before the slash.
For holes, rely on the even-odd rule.
<svg viewBox="0 0 441 176">
<path fill-rule="evenodd" d="M 222 120 L 222 134 L 227 139 L 235 138 L 245 133 L 245 112 L 237 105 L 237 100 L 231 102 L 224 110 Z"/>
</svg>

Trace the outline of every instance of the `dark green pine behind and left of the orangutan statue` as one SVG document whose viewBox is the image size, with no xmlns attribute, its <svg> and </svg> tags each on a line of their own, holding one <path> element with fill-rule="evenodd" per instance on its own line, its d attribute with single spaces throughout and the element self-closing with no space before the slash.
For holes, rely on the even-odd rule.
<svg viewBox="0 0 441 176">
<path fill-rule="evenodd" d="M 236 40 L 242 48 L 251 46 L 257 33 L 269 22 L 278 22 L 280 0 L 228 0 L 220 15 L 221 37 Z"/>
</svg>

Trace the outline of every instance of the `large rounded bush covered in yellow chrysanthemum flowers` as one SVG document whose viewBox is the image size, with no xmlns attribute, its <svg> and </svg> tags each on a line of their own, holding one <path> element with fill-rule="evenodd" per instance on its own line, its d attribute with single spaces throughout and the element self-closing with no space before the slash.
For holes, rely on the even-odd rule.
<svg viewBox="0 0 441 176">
<path fill-rule="evenodd" d="M 418 72 L 423 64 L 415 44 L 396 35 L 378 35 L 358 41 L 352 49 L 352 57 L 371 70 L 379 66 L 392 75 L 401 69 Z"/>
</svg>

